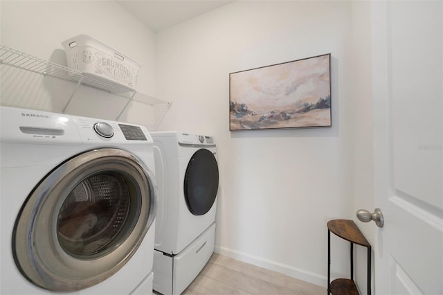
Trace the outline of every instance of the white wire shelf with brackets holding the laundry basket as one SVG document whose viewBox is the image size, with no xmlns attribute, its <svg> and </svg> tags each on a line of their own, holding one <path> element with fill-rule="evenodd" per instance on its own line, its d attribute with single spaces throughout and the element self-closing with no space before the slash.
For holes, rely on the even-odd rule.
<svg viewBox="0 0 443 295">
<path fill-rule="evenodd" d="M 158 127 L 159 123 L 161 123 L 163 116 L 165 116 L 165 113 L 172 105 L 171 102 L 166 102 L 152 96 L 147 96 L 141 92 L 136 91 L 135 89 L 126 87 L 125 85 L 100 78 L 96 75 L 80 73 L 73 69 L 69 69 L 66 66 L 62 66 L 54 62 L 49 62 L 47 60 L 42 60 L 41 58 L 35 57 L 33 55 L 28 55 L 27 53 L 23 53 L 21 51 L 17 51 L 3 45 L 0 45 L 0 64 L 2 68 L 4 68 L 5 66 L 13 67 L 32 73 L 73 82 L 77 85 L 85 85 L 87 87 L 100 89 L 102 91 L 107 91 L 114 95 L 126 98 L 128 100 L 127 104 L 122 109 L 122 111 L 120 111 L 120 114 L 118 115 L 116 120 L 120 118 L 120 116 L 123 114 L 125 109 L 132 101 L 136 101 L 154 107 L 154 114 L 156 117 L 156 122 L 154 123 L 154 125 L 156 128 Z M 64 107 L 64 111 L 66 110 L 66 107 L 68 107 L 69 102 L 71 102 L 71 99 L 74 97 L 74 95 L 75 91 L 74 93 L 72 93 L 71 98 Z"/>
</svg>

